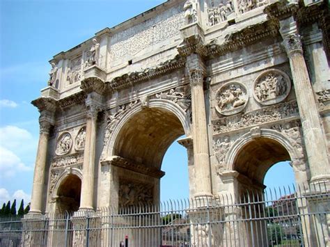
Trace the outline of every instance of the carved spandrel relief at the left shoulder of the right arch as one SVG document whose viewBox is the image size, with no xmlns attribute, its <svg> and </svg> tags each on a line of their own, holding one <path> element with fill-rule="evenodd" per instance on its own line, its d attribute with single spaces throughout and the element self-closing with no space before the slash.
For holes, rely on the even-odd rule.
<svg viewBox="0 0 330 247">
<path fill-rule="evenodd" d="M 231 141 L 229 136 L 218 138 L 214 141 L 213 150 L 214 155 L 217 158 L 218 164 L 216 165 L 217 174 L 223 173 L 226 170 L 226 164 L 224 163 L 226 154 L 230 148 Z"/>
</svg>

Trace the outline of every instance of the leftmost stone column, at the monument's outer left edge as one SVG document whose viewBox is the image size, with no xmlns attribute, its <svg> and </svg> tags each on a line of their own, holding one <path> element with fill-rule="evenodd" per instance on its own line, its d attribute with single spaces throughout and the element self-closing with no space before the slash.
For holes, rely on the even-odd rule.
<svg viewBox="0 0 330 247">
<path fill-rule="evenodd" d="M 30 213 L 41 214 L 42 211 L 42 195 L 44 192 L 43 189 L 45 185 L 45 171 L 50 127 L 51 125 L 49 124 L 49 122 L 40 122 L 40 136 L 36 157 L 36 166 L 34 169 L 33 176 Z"/>
</svg>

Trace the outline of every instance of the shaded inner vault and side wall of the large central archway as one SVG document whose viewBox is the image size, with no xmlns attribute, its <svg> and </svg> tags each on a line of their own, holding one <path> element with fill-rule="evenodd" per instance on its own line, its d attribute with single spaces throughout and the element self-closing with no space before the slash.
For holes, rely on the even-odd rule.
<svg viewBox="0 0 330 247">
<path fill-rule="evenodd" d="M 184 134 L 178 116 L 162 108 L 142 109 L 125 122 L 113 149 L 119 207 L 159 202 L 164 154 Z"/>
</svg>

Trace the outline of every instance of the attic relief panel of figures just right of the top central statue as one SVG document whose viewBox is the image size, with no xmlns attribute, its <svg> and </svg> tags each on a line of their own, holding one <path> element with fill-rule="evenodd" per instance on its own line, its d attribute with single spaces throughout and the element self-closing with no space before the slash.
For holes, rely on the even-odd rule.
<svg viewBox="0 0 330 247">
<path fill-rule="evenodd" d="M 231 0 L 219 3 L 219 6 L 208 8 L 207 15 L 210 26 L 226 21 L 231 13 L 234 13 L 234 7 Z"/>
</svg>

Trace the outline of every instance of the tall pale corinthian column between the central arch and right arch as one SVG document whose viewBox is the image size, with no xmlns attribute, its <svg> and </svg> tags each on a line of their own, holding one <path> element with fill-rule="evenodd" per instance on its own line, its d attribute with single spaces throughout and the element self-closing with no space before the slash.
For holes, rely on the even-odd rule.
<svg viewBox="0 0 330 247">
<path fill-rule="evenodd" d="M 191 86 L 194 166 L 197 184 L 196 194 L 194 196 L 212 196 L 210 153 L 203 90 L 205 68 L 198 54 L 191 54 L 187 57 L 187 70 L 189 72 Z"/>
</svg>

